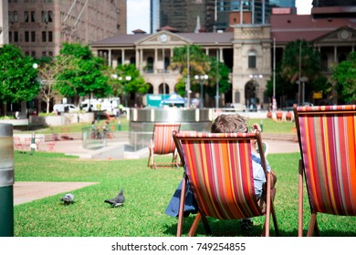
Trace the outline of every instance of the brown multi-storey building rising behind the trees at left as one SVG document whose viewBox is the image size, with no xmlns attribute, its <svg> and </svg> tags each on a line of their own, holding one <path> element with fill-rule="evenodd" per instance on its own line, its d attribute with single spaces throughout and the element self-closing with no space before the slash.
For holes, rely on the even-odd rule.
<svg viewBox="0 0 356 255">
<path fill-rule="evenodd" d="M 34 57 L 56 56 L 64 42 L 89 44 L 126 34 L 121 0 L 8 0 L 7 17 L 8 43 Z"/>
</svg>

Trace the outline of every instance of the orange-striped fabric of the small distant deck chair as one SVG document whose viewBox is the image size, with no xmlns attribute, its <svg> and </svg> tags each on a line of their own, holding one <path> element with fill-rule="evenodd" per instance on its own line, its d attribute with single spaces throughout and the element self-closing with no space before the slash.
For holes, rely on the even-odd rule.
<svg viewBox="0 0 356 255">
<path fill-rule="evenodd" d="M 157 123 L 153 128 L 153 153 L 154 154 L 169 154 L 174 153 L 175 144 L 173 141 L 173 131 L 179 131 L 181 124 L 173 123 Z"/>
</svg>

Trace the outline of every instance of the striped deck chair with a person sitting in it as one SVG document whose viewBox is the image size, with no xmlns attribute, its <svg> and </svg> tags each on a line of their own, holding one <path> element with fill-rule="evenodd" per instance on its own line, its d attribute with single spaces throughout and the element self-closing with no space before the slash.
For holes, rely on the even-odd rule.
<svg viewBox="0 0 356 255">
<path fill-rule="evenodd" d="M 178 215 L 177 236 L 182 235 L 185 182 L 188 179 L 198 205 L 198 213 L 189 230 L 194 236 L 200 220 L 210 233 L 206 217 L 215 219 L 246 219 L 263 216 L 255 195 L 251 141 L 257 139 L 262 149 L 260 133 L 177 133 L 173 139 L 183 162 L 184 175 Z M 278 235 L 277 219 L 271 200 L 271 177 L 266 158 L 260 153 L 267 184 L 267 209 L 262 236 L 269 236 L 270 215 Z"/>
</svg>

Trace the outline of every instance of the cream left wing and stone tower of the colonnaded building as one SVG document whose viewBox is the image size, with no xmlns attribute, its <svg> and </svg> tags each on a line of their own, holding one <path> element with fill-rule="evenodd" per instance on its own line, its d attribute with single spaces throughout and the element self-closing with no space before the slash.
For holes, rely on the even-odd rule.
<svg viewBox="0 0 356 255">
<path fill-rule="evenodd" d="M 110 37 L 91 44 L 91 48 L 97 56 L 106 58 L 110 66 L 135 64 L 151 86 L 150 93 L 172 94 L 181 75 L 168 68 L 169 58 L 173 56 L 174 47 L 189 45 L 202 46 L 207 56 L 217 56 L 232 70 L 233 89 L 220 98 L 221 106 L 236 103 L 248 107 L 265 101 L 267 104 L 265 92 L 271 74 L 269 26 L 236 26 L 234 33 L 162 30 L 152 35 Z M 192 99 L 199 97 L 199 93 L 191 95 Z M 204 95 L 204 106 L 214 107 L 214 101 Z"/>
</svg>

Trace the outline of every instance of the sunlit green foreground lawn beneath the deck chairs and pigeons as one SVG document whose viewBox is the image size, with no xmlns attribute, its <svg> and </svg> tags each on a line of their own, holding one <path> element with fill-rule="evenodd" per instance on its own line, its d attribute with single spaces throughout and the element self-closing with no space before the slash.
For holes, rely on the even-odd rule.
<svg viewBox="0 0 356 255">
<path fill-rule="evenodd" d="M 280 234 L 297 236 L 298 153 L 268 155 L 277 173 L 275 207 Z M 16 181 L 98 182 L 83 189 L 68 190 L 75 203 L 64 206 L 65 193 L 15 207 L 16 237 L 172 237 L 177 219 L 164 209 L 182 178 L 183 168 L 147 168 L 147 158 L 130 160 L 84 160 L 62 154 L 15 153 Z M 124 189 L 123 207 L 112 209 L 105 199 Z M 309 213 L 308 199 L 305 211 Z M 184 220 L 192 223 L 194 217 Z M 253 235 L 262 230 L 262 219 L 255 218 Z M 304 229 L 307 220 L 304 217 Z M 241 236 L 237 220 L 209 219 L 215 236 Z M 356 236 L 356 218 L 320 215 L 321 236 Z M 188 231 L 184 224 L 183 234 Z M 274 231 L 271 232 L 274 235 Z M 203 226 L 197 236 L 205 236 Z"/>
</svg>

